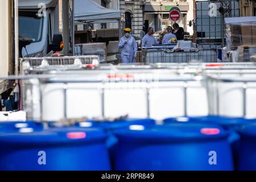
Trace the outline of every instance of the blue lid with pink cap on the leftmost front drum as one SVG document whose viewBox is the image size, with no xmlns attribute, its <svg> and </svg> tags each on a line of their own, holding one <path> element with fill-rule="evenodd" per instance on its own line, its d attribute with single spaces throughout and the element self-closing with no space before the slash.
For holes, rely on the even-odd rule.
<svg viewBox="0 0 256 182">
<path fill-rule="evenodd" d="M 107 135 L 97 128 L 55 128 L 40 132 L 6 133 L 0 135 L 0 143 L 7 144 L 63 144 L 75 142 L 100 142 Z"/>
</svg>

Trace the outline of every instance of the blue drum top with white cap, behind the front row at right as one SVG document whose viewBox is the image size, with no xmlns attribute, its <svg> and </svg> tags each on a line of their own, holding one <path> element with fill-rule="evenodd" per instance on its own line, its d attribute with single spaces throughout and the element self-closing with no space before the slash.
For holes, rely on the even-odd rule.
<svg viewBox="0 0 256 182">
<path fill-rule="evenodd" d="M 217 124 L 222 126 L 236 126 L 244 123 L 254 122 L 256 119 L 245 119 L 245 118 L 233 118 L 233 117 L 220 117 L 209 115 L 207 117 L 178 117 L 164 119 L 165 123 L 169 122 L 205 122 L 211 124 Z"/>
</svg>

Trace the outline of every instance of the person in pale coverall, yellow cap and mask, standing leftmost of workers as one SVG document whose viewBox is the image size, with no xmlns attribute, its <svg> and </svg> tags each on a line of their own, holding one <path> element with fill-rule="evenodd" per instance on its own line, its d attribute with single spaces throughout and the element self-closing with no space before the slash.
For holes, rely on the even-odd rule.
<svg viewBox="0 0 256 182">
<path fill-rule="evenodd" d="M 138 45 L 136 40 L 131 36 L 131 28 L 124 29 L 125 35 L 122 36 L 118 47 L 122 49 L 122 63 L 135 63 L 137 57 Z"/>
</svg>

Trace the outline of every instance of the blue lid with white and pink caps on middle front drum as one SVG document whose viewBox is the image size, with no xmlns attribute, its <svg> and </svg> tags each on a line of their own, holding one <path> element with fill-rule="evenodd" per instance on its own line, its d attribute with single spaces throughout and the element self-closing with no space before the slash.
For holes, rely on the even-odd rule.
<svg viewBox="0 0 256 182">
<path fill-rule="evenodd" d="M 158 140 L 158 141 L 191 141 L 204 139 L 227 138 L 229 132 L 217 125 L 179 123 L 169 125 L 142 126 L 131 125 L 126 129 L 116 130 L 114 133 L 119 139 L 133 140 Z"/>
</svg>

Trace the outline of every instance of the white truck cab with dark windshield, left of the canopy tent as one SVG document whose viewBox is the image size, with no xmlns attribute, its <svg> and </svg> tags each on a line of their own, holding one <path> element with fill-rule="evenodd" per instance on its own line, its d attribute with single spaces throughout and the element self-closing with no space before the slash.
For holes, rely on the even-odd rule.
<svg viewBox="0 0 256 182">
<path fill-rule="evenodd" d="M 31 44 L 22 47 L 20 57 L 47 55 L 56 34 L 59 34 L 57 0 L 19 0 L 19 36 L 32 39 Z"/>
</svg>

